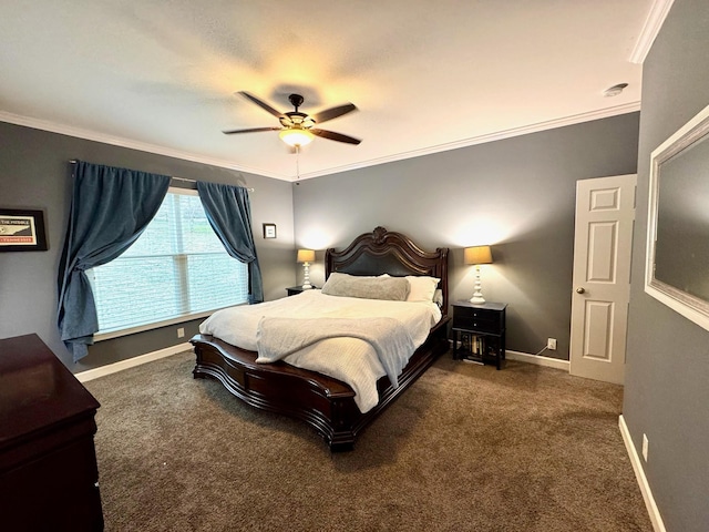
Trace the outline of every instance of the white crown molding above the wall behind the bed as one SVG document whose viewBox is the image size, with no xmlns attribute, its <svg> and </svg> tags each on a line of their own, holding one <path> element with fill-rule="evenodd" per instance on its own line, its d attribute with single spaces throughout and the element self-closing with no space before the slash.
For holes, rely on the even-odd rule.
<svg viewBox="0 0 709 532">
<path fill-rule="evenodd" d="M 438 144 L 435 146 L 423 147 L 421 150 L 412 150 L 410 152 L 401 152 L 393 155 L 388 155 L 386 157 L 370 158 L 369 161 L 360 161 L 343 166 L 336 166 L 318 172 L 300 174 L 300 181 L 309 180 L 312 177 L 321 177 L 323 175 L 337 174 L 340 172 L 348 172 L 350 170 L 364 168 L 367 166 L 374 166 L 378 164 L 393 163 L 395 161 L 403 161 L 405 158 L 420 157 L 422 155 L 431 155 L 434 153 L 446 152 L 449 150 L 458 150 L 459 147 L 467 147 L 476 144 L 484 144 L 487 142 L 502 141 L 504 139 L 511 139 L 513 136 L 527 135 L 530 133 L 538 133 L 541 131 L 564 127 L 565 125 L 574 125 L 583 122 L 590 122 L 592 120 L 607 119 L 610 116 L 617 116 L 619 114 L 634 113 L 639 110 L 640 102 L 630 102 L 623 105 L 590 111 L 587 113 L 564 116 L 562 119 L 537 122 L 536 124 L 512 127 L 510 130 L 497 131 L 494 133 L 486 133 L 484 135 L 473 136 L 470 139 L 464 139 L 462 141 Z"/>
</svg>

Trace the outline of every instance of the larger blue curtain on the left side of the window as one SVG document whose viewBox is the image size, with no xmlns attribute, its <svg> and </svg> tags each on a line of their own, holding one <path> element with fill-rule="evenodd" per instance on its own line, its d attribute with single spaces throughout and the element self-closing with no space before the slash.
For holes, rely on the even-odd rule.
<svg viewBox="0 0 709 532">
<path fill-rule="evenodd" d="M 74 361 L 86 356 L 99 330 L 85 270 L 110 263 L 137 239 L 153 219 L 171 178 L 79 161 L 74 168 L 69 226 L 59 265 L 61 338 Z"/>
</svg>

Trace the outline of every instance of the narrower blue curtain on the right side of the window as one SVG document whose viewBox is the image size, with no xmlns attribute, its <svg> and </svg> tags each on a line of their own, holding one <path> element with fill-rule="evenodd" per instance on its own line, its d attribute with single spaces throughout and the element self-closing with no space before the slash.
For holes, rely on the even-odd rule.
<svg viewBox="0 0 709 532">
<path fill-rule="evenodd" d="M 254 244 L 248 191 L 240 186 L 197 182 L 197 192 L 209 225 L 227 253 L 248 265 L 249 303 L 261 303 L 264 283 Z"/>
</svg>

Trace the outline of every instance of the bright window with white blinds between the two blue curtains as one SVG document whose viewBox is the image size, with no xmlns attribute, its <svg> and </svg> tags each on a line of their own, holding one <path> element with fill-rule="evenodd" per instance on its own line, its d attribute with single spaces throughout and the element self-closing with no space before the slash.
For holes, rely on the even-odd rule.
<svg viewBox="0 0 709 532">
<path fill-rule="evenodd" d="M 138 239 L 88 274 L 99 315 L 97 339 L 248 300 L 247 265 L 226 253 L 195 191 L 169 188 Z"/>
</svg>

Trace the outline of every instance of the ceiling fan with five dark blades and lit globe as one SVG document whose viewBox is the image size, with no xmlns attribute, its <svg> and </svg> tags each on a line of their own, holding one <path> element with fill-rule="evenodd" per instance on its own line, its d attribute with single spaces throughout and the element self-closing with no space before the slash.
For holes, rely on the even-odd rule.
<svg viewBox="0 0 709 532">
<path fill-rule="evenodd" d="M 250 100 L 259 108 L 269 112 L 274 116 L 276 116 L 280 122 L 280 127 L 249 127 L 246 130 L 227 130 L 223 133 L 226 135 L 233 135 L 236 133 L 256 133 L 258 131 L 279 131 L 278 134 L 280 139 L 292 147 L 300 147 L 309 144 L 314 137 L 320 136 L 322 139 L 329 139 L 330 141 L 345 142 L 347 144 L 359 144 L 362 142 L 360 139 L 354 139 L 353 136 L 343 135 L 342 133 L 336 133 L 333 131 L 320 130 L 319 127 L 315 127 L 316 124 L 321 124 L 322 122 L 327 122 L 328 120 L 337 119 L 338 116 L 342 116 L 343 114 L 350 113 L 352 111 L 357 111 L 357 108 L 353 103 L 346 103 L 345 105 L 339 105 L 337 108 L 327 109 L 325 111 L 320 111 L 317 114 L 306 114 L 298 111 L 300 105 L 302 105 L 304 98 L 300 94 L 290 94 L 288 100 L 290 104 L 295 108 L 295 111 L 289 111 L 287 113 L 281 113 L 269 104 L 259 100 L 258 98 L 249 94 L 248 92 L 237 92 L 237 94 L 243 95 L 244 98 Z"/>
</svg>

